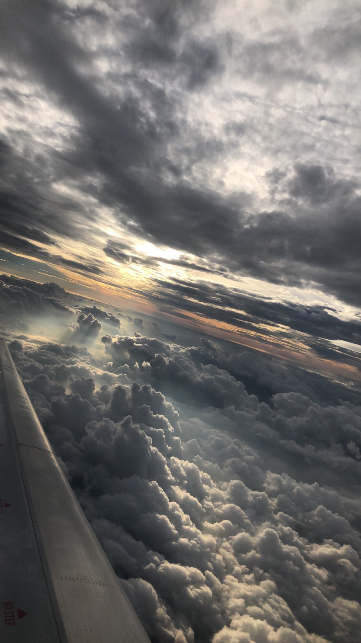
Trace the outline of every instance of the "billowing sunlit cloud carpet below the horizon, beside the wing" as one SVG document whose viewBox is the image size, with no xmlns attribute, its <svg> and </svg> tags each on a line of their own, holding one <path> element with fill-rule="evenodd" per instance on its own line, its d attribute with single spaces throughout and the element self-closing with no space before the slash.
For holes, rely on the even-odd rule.
<svg viewBox="0 0 361 643">
<path fill-rule="evenodd" d="M 361 507 L 341 487 L 352 493 L 359 484 L 359 407 L 311 401 L 312 374 L 296 383 L 274 365 L 269 380 L 276 388 L 287 380 L 289 392 L 269 406 L 226 370 L 238 359 L 243 372 L 266 377 L 250 354 L 225 354 L 210 341 L 170 349 L 138 335 L 107 344 L 114 367 L 128 373 L 125 385 L 98 385 L 100 369 L 85 349 L 19 340 L 10 349 L 150 637 L 357 643 Z M 148 357 L 159 371 L 160 356 L 168 381 L 183 374 L 191 404 L 195 390 L 208 391 L 203 411 L 188 405 L 179 415 L 141 383 L 147 369 L 136 362 Z M 166 364 L 179 358 L 177 376 Z M 212 359 L 223 367 L 211 368 Z M 301 470 L 309 482 L 294 479 L 291 471 Z M 315 477 L 333 480 L 335 490 Z"/>
</svg>

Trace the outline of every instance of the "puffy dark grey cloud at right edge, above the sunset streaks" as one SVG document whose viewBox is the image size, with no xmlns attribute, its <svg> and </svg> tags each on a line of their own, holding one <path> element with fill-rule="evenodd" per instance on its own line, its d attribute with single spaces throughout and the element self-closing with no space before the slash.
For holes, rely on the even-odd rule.
<svg viewBox="0 0 361 643">
<path fill-rule="evenodd" d="M 249 218 L 239 237 L 243 266 L 275 283 L 321 284 L 357 305 L 360 197 L 348 181 L 326 180 L 322 168 L 296 167 L 288 188 L 297 217 L 279 210 Z"/>
</svg>

